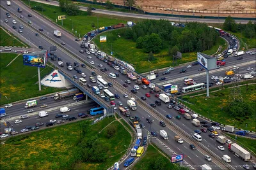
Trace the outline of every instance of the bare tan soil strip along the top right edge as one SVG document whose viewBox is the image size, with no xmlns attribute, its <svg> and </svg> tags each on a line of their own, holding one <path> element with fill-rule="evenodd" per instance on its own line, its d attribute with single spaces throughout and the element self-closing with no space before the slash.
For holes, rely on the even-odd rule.
<svg viewBox="0 0 256 170">
<path fill-rule="evenodd" d="M 123 0 L 111 0 L 111 2 L 115 4 L 123 4 Z M 136 6 L 140 6 L 144 11 L 153 13 L 173 13 L 180 15 L 189 15 L 190 13 L 191 15 L 199 16 L 227 17 L 228 15 L 231 15 L 232 17 L 255 17 L 256 12 L 256 2 L 254 0 L 136 0 Z M 173 9 L 173 11 L 171 11 L 171 9 Z M 185 11 L 175 11 L 177 9 Z M 199 10 L 200 12 L 198 12 Z M 220 14 L 218 13 L 218 10 L 220 10 Z"/>
</svg>

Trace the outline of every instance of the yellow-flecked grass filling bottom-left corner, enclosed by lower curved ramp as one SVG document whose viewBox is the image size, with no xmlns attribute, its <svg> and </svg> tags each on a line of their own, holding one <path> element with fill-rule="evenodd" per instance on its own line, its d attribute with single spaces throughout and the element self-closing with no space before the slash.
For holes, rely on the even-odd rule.
<svg viewBox="0 0 256 170">
<path fill-rule="evenodd" d="M 110 139 L 105 137 L 108 129 L 106 125 L 113 120 L 114 118 L 105 118 L 88 127 L 89 136 L 98 134 L 99 140 L 110 146 L 108 159 L 100 164 L 76 162 L 67 169 L 108 169 L 124 155 L 125 152 L 122 151 L 127 148 L 124 145 L 129 145 L 131 136 L 119 122 L 111 124 L 118 129 L 115 136 Z M 80 127 L 80 123 L 82 122 L 74 122 L 7 139 L 6 143 L 0 146 L 1 169 L 61 169 L 61 164 L 67 164 L 76 154 L 74 151 L 80 136 L 80 128 L 83 128 Z M 99 134 L 104 127 L 106 129 Z M 19 140 L 22 137 L 24 139 Z"/>
</svg>

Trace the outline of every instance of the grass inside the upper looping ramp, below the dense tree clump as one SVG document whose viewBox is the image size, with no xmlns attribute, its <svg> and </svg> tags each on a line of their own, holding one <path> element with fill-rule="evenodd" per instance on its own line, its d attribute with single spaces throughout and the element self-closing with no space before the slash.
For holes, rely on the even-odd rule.
<svg viewBox="0 0 256 170">
<path fill-rule="evenodd" d="M 168 49 L 161 50 L 160 53 L 154 55 L 156 60 L 148 62 L 148 54 L 144 53 L 142 49 L 136 48 L 136 43 L 134 41 L 118 37 L 118 34 L 122 31 L 122 29 L 117 29 L 114 31 L 103 32 L 99 36 L 107 36 L 107 42 L 100 43 L 99 36 L 93 38 L 93 42 L 100 48 L 100 50 L 109 54 L 111 53 L 112 46 L 113 56 L 132 64 L 138 73 L 145 73 L 163 67 L 176 66 L 175 62 L 174 65 L 172 65 L 172 57 L 167 56 Z M 218 38 L 217 45 L 204 53 L 212 55 L 218 50 L 219 45 L 225 45 L 224 39 Z M 182 59 L 177 60 L 177 64 L 191 62 L 193 60 L 196 60 L 196 52 L 182 53 Z"/>
</svg>

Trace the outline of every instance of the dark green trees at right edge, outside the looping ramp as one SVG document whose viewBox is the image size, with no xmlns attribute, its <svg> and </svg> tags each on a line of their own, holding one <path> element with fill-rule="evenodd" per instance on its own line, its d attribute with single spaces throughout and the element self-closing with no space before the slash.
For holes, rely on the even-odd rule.
<svg viewBox="0 0 256 170">
<path fill-rule="evenodd" d="M 225 19 L 225 22 L 223 24 L 223 29 L 227 31 L 232 31 L 232 32 L 239 32 L 246 37 L 246 38 L 255 38 L 256 34 L 256 24 L 253 24 L 252 21 L 249 21 L 247 24 L 237 24 L 235 20 L 230 17 L 230 15 Z"/>
</svg>

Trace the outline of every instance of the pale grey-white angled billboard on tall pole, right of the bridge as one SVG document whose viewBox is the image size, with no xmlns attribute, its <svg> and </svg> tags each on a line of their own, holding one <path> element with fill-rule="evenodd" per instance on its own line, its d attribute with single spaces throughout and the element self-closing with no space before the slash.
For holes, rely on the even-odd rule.
<svg viewBox="0 0 256 170">
<path fill-rule="evenodd" d="M 201 66 L 203 66 L 207 70 L 216 69 L 217 67 L 217 60 L 216 57 L 211 57 L 205 53 L 197 53 L 197 61 Z"/>
</svg>

